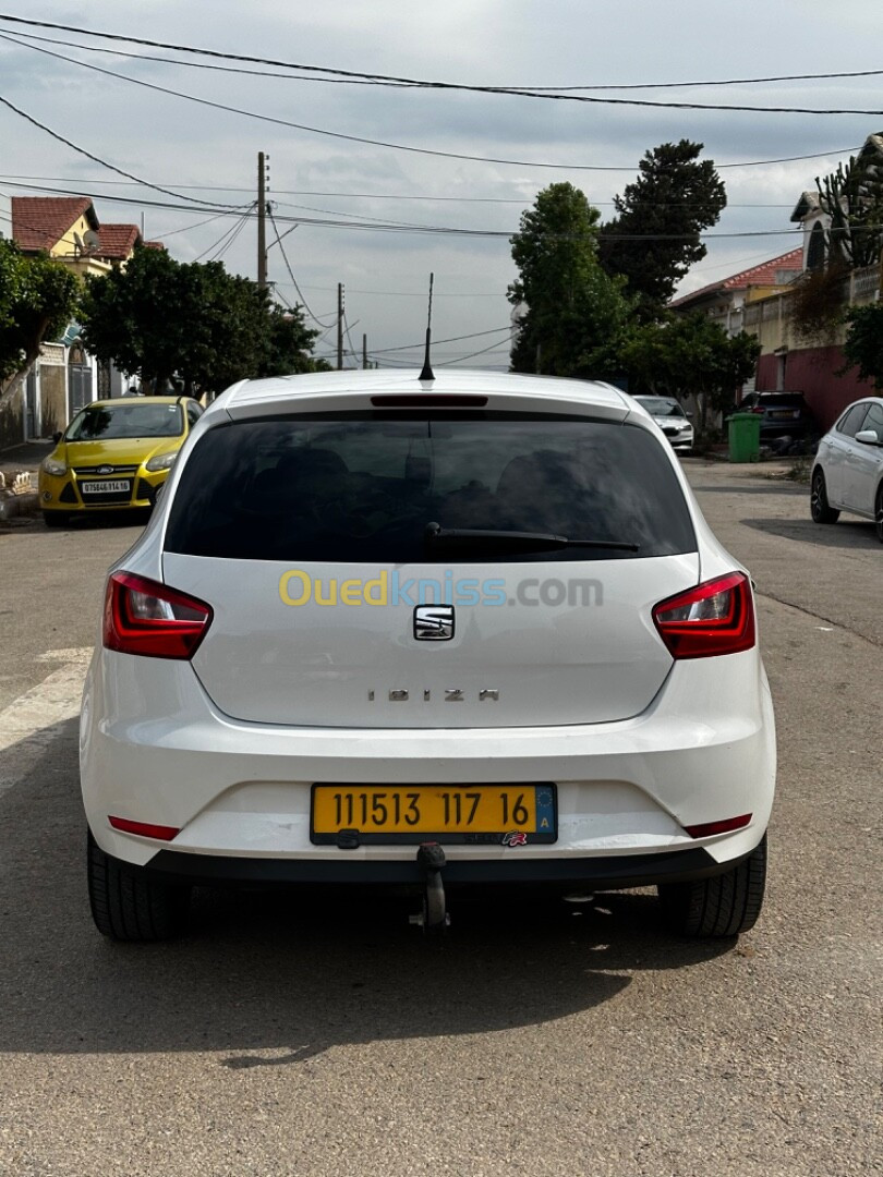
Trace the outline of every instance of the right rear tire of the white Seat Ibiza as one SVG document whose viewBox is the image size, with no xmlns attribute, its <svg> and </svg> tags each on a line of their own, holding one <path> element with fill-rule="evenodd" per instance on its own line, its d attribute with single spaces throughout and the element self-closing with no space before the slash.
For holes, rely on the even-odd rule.
<svg viewBox="0 0 883 1177">
<path fill-rule="evenodd" d="M 748 858 L 710 879 L 658 887 L 669 930 L 690 939 L 738 936 L 757 923 L 766 885 L 766 834 Z"/>
</svg>

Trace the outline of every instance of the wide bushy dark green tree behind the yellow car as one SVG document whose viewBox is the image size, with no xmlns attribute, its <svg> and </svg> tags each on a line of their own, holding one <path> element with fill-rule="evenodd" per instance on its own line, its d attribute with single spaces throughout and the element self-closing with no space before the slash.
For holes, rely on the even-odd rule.
<svg viewBox="0 0 883 1177">
<path fill-rule="evenodd" d="M 177 378 L 198 395 L 245 377 L 305 371 L 317 335 L 299 307 L 287 318 L 223 262 L 185 264 L 148 248 L 125 270 L 87 280 L 81 320 L 99 359 L 160 388 Z"/>
</svg>

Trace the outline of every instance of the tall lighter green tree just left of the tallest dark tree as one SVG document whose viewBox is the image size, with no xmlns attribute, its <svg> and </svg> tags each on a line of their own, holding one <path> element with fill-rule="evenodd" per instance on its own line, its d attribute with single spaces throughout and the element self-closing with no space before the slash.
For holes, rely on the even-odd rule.
<svg viewBox="0 0 883 1177">
<path fill-rule="evenodd" d="M 604 273 L 597 257 L 598 211 L 571 184 L 552 184 L 522 214 L 512 238 L 519 271 L 507 297 L 518 313 L 514 372 L 604 378 L 631 304 L 624 282 Z"/>
</svg>

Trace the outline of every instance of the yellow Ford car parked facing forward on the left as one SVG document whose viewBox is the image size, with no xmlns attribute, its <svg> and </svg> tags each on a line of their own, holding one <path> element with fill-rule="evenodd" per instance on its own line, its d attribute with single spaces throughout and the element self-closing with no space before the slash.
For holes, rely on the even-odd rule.
<svg viewBox="0 0 883 1177">
<path fill-rule="evenodd" d="M 86 405 L 40 466 L 47 527 L 81 512 L 153 506 L 201 413 L 190 397 L 120 397 Z"/>
</svg>

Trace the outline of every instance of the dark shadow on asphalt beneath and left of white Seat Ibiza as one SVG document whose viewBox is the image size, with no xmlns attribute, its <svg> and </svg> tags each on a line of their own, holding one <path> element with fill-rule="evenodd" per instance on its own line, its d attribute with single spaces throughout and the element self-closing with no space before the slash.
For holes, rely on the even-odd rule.
<svg viewBox="0 0 883 1177">
<path fill-rule="evenodd" d="M 452 898 L 433 940 L 409 924 L 414 899 L 364 890 L 198 891 L 188 937 L 112 944 L 88 915 L 75 750 L 62 752 L 64 771 L 49 751 L 0 797 L 0 1051 L 300 1064 L 339 1045 L 552 1023 L 643 970 L 701 967 L 733 946 L 670 938 L 646 892 Z"/>
</svg>

